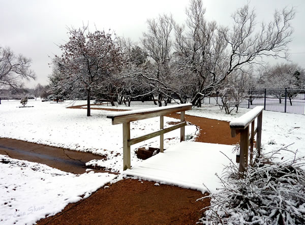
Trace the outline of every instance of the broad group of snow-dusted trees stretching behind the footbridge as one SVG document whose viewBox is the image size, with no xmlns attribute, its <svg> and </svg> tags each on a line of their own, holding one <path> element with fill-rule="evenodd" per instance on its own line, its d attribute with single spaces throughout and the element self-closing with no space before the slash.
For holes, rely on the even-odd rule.
<svg viewBox="0 0 305 225">
<path fill-rule="evenodd" d="M 147 20 L 139 43 L 113 32 L 69 29 L 51 63 L 50 89 L 67 99 L 107 99 L 114 105 L 133 99 L 155 104 L 191 102 L 219 93 L 226 113 L 255 88 L 257 66 L 265 57 L 287 58 L 293 9 L 275 11 L 270 22 L 256 21 L 249 5 L 232 14 L 232 26 L 209 21 L 201 0 L 191 0 L 184 24 L 172 15 Z"/>
</svg>

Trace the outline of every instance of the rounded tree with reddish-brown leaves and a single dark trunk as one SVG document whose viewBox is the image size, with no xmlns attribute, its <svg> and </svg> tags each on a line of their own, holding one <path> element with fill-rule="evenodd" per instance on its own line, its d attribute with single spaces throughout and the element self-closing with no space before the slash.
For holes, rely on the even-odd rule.
<svg viewBox="0 0 305 225">
<path fill-rule="evenodd" d="M 89 32 L 83 26 L 78 30 L 69 29 L 68 35 L 69 41 L 59 46 L 62 55 L 55 55 L 53 66 L 59 73 L 54 76 L 59 77 L 52 90 L 68 93 L 70 99 L 85 95 L 87 116 L 90 116 L 92 93 L 102 93 L 102 88 L 108 87 L 107 79 L 118 72 L 123 58 L 111 33 Z"/>
</svg>

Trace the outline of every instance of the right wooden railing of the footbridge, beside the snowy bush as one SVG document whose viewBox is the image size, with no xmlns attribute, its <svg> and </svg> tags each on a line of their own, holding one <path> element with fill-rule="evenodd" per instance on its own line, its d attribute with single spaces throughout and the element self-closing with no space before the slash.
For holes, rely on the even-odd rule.
<svg viewBox="0 0 305 225">
<path fill-rule="evenodd" d="M 263 117 L 263 106 L 256 106 L 254 109 L 248 111 L 248 113 L 242 115 L 239 118 L 234 119 L 230 122 L 231 136 L 235 137 L 236 134 L 240 133 L 240 151 L 239 155 L 236 156 L 236 162 L 239 163 L 239 172 L 245 172 L 248 167 L 248 151 L 250 145 L 250 164 L 253 160 L 253 146 L 254 136 L 256 134 L 256 149 L 258 156 L 261 152 L 261 134 L 262 134 L 262 117 Z M 255 119 L 257 118 L 257 127 L 255 128 Z M 251 135 L 249 138 L 249 126 L 251 124 Z"/>
</svg>

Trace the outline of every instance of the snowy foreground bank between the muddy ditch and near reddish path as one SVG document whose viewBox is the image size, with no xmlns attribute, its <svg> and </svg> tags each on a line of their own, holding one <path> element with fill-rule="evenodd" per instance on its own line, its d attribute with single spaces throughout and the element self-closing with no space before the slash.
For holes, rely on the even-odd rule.
<svg viewBox="0 0 305 225">
<path fill-rule="evenodd" d="M 115 177 L 94 172 L 75 175 L 0 155 L 0 224 L 33 224 L 87 198 Z"/>
</svg>

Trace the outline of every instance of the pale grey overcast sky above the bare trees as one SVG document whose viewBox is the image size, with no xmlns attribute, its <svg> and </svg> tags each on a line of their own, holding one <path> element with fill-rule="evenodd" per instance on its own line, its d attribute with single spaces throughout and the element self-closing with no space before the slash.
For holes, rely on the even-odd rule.
<svg viewBox="0 0 305 225">
<path fill-rule="evenodd" d="M 203 0 L 206 18 L 223 25 L 230 25 L 231 14 L 246 3 L 244 0 Z M 9 46 L 15 53 L 32 59 L 37 80 L 27 83 L 27 87 L 32 88 L 38 82 L 46 85 L 51 71 L 49 57 L 59 54 L 57 45 L 68 40 L 67 26 L 78 28 L 83 22 L 89 22 L 91 30 L 94 26 L 98 30 L 111 29 L 119 36 L 139 41 L 146 31 L 147 18 L 171 13 L 176 22 L 183 23 L 188 5 L 188 0 L 0 0 L 0 46 Z M 289 49 L 292 62 L 305 68 L 305 1 L 253 0 L 250 6 L 255 8 L 258 22 L 270 21 L 276 8 L 295 7 L 294 34 Z M 277 62 L 271 61 L 272 64 Z"/>
</svg>

